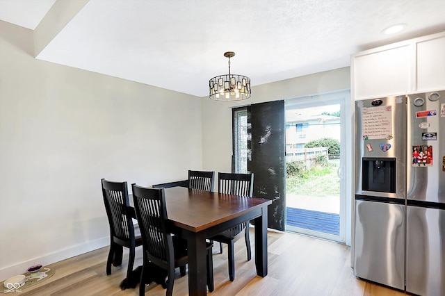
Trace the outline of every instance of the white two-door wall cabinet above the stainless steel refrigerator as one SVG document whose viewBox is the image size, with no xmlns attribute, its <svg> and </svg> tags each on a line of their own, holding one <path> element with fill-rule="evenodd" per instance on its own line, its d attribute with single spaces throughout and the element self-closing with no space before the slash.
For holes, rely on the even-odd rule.
<svg viewBox="0 0 445 296">
<path fill-rule="evenodd" d="M 351 56 L 354 99 L 445 90 L 445 32 Z"/>
</svg>

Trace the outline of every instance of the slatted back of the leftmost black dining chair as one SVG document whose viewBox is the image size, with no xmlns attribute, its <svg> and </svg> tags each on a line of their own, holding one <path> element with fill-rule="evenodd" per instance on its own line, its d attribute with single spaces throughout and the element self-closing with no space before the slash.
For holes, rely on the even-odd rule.
<svg viewBox="0 0 445 296">
<path fill-rule="evenodd" d="M 127 215 L 129 197 L 127 182 L 113 182 L 102 179 L 102 196 L 111 236 L 120 240 L 134 238 L 134 228 L 131 217 Z"/>
</svg>

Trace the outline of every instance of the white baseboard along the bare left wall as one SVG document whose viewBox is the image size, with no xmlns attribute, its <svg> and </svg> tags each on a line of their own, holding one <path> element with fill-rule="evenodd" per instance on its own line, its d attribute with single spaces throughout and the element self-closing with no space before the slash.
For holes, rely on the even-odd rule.
<svg viewBox="0 0 445 296">
<path fill-rule="evenodd" d="M 95 249 L 100 249 L 101 247 L 106 247 L 110 245 L 110 237 L 98 238 L 96 240 L 90 240 L 88 242 L 83 242 L 80 245 L 75 245 L 67 249 L 63 249 L 51 254 L 46 254 L 41 257 L 32 258 L 28 261 L 20 262 L 14 265 L 7 266 L 6 268 L 0 268 L 0 281 L 4 281 L 10 277 L 17 274 L 22 274 L 26 272 L 32 265 L 42 264 L 43 266 L 56 263 L 58 261 L 65 260 L 67 258 L 72 258 L 81 254 L 85 254 Z"/>
</svg>

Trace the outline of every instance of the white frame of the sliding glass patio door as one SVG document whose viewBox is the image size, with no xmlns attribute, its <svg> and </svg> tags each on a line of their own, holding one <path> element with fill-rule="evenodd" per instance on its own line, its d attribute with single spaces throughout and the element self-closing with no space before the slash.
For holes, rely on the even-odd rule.
<svg viewBox="0 0 445 296">
<path fill-rule="evenodd" d="M 330 233 L 323 233 L 320 231 L 312 231 L 309 229 L 302 229 L 298 227 L 289 227 L 287 224 L 285 225 L 286 231 L 297 232 L 301 234 L 305 234 L 307 236 L 314 236 L 317 238 L 323 238 L 326 240 L 333 240 L 336 242 L 346 242 L 346 222 L 348 220 L 346 211 L 346 199 L 348 195 L 346 194 L 346 178 L 345 178 L 345 169 L 347 170 L 346 165 L 346 151 L 347 145 L 346 142 L 346 125 L 347 125 L 347 106 L 350 104 L 350 94 L 349 91 L 341 91 L 341 92 L 330 92 L 327 94 L 316 94 L 313 96 L 306 97 L 297 97 L 293 99 L 286 99 L 284 101 L 285 110 L 288 110 L 288 107 L 292 106 L 293 108 L 311 108 L 325 105 L 340 105 L 340 167 L 339 167 L 339 176 L 340 176 L 340 231 L 339 235 L 336 236 Z"/>
</svg>

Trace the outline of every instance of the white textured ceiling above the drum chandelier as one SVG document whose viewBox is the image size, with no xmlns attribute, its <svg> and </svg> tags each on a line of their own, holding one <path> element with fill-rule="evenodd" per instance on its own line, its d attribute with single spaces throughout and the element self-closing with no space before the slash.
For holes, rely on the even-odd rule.
<svg viewBox="0 0 445 296">
<path fill-rule="evenodd" d="M 34 30 L 56 4 L 70 5 L 59 1 L 0 0 L 0 20 Z M 86 4 L 36 58 L 199 97 L 209 79 L 228 73 L 225 51 L 236 53 L 232 74 L 254 86 L 347 67 L 357 51 L 445 31 L 445 0 L 76 1 Z M 399 23 L 407 25 L 401 33 L 382 33 Z"/>
</svg>

